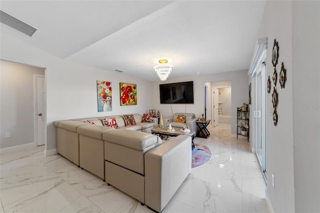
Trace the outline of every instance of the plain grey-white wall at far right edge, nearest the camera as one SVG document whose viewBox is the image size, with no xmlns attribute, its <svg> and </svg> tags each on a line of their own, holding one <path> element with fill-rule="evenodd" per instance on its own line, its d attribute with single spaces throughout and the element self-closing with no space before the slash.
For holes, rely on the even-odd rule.
<svg viewBox="0 0 320 213">
<path fill-rule="evenodd" d="M 292 2 L 292 81 L 295 212 L 320 212 L 320 1 Z"/>
</svg>

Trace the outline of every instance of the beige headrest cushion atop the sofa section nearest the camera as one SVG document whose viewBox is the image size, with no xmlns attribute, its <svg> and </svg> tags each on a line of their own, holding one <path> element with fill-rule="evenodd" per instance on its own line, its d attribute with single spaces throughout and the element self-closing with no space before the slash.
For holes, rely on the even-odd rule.
<svg viewBox="0 0 320 213">
<path fill-rule="evenodd" d="M 149 146 L 162 143 L 160 137 L 143 131 L 117 129 L 116 131 L 105 131 L 102 134 L 105 141 L 127 146 L 137 150 L 143 150 Z"/>
</svg>

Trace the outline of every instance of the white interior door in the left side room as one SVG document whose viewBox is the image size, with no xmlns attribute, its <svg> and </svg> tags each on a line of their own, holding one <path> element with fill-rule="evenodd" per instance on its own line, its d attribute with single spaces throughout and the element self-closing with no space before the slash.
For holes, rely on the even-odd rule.
<svg viewBox="0 0 320 213">
<path fill-rule="evenodd" d="M 43 75 L 35 75 L 35 143 L 37 146 L 45 143 L 45 81 Z"/>
</svg>

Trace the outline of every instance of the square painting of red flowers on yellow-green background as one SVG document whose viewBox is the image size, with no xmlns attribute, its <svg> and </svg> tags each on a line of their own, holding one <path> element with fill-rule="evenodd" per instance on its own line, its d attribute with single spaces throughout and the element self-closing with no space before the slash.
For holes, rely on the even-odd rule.
<svg viewBox="0 0 320 213">
<path fill-rule="evenodd" d="M 136 84 L 120 82 L 120 105 L 136 105 Z"/>
</svg>

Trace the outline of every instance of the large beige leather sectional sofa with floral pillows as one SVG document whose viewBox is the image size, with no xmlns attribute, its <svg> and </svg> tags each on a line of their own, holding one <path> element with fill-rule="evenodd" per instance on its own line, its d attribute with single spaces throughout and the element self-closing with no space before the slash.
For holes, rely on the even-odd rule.
<svg viewBox="0 0 320 213">
<path fill-rule="evenodd" d="M 105 117 L 56 121 L 57 152 L 161 212 L 191 170 L 191 137 L 162 141 L 149 133 L 157 120 L 141 122 L 142 115 L 133 115 L 135 125 L 112 116 L 118 128 L 103 126 Z"/>
</svg>

